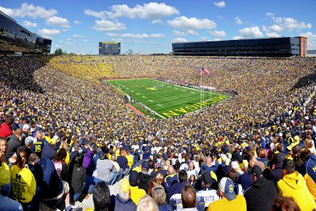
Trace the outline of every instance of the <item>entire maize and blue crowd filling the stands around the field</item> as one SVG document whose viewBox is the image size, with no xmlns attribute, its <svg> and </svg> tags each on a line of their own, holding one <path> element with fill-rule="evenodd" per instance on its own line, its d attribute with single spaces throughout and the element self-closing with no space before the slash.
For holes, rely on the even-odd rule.
<svg viewBox="0 0 316 211">
<path fill-rule="evenodd" d="M 0 57 L 0 208 L 315 210 L 315 58 Z M 140 116 L 104 78 L 238 93 Z M 117 195 L 109 186 L 119 183 Z"/>
</svg>

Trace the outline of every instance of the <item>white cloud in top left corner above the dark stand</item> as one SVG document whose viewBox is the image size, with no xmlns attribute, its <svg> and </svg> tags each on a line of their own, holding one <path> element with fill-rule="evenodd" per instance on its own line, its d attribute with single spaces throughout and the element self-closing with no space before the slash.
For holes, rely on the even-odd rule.
<svg viewBox="0 0 316 211">
<path fill-rule="evenodd" d="M 19 17 L 19 18 L 50 18 L 53 15 L 57 14 L 57 11 L 54 9 L 46 10 L 41 6 L 34 6 L 33 4 L 23 3 L 20 8 L 4 8 L 0 6 L 0 11 L 6 13 L 10 17 Z"/>
</svg>

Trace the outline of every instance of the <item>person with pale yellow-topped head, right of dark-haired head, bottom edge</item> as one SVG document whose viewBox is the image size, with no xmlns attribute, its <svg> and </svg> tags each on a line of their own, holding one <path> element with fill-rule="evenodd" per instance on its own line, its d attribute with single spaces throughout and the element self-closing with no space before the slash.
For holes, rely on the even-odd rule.
<svg viewBox="0 0 316 211">
<path fill-rule="evenodd" d="M 121 181 L 119 193 L 117 193 L 117 196 L 115 197 L 114 211 L 136 210 L 136 204 L 133 202 L 133 200 L 131 200 L 130 187 L 129 180 L 124 178 Z"/>
</svg>

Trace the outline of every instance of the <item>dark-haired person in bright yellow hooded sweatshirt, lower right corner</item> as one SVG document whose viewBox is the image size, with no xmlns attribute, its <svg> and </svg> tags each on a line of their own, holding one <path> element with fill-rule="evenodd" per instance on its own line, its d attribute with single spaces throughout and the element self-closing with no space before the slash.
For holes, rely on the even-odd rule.
<svg viewBox="0 0 316 211">
<path fill-rule="evenodd" d="M 315 209 L 315 198 L 308 190 L 304 177 L 295 170 L 294 161 L 284 160 L 282 168 L 284 176 L 277 182 L 279 196 L 292 196 L 301 210 Z"/>
</svg>

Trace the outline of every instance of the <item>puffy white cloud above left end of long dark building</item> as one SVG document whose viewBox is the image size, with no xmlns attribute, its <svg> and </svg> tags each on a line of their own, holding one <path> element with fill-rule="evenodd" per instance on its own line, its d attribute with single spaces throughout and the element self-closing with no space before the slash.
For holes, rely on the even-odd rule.
<svg viewBox="0 0 316 211">
<path fill-rule="evenodd" d="M 209 19 L 187 18 L 185 16 L 168 20 L 168 24 L 176 29 L 215 29 L 216 22 Z"/>
</svg>

